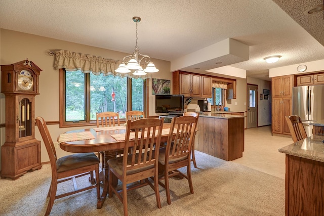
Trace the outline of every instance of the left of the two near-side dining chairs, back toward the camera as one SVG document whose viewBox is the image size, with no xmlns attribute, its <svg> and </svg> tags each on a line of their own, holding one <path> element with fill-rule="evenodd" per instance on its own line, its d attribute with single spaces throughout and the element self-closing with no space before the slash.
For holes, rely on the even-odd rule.
<svg viewBox="0 0 324 216">
<path fill-rule="evenodd" d="M 163 122 L 164 118 L 128 120 L 124 156 L 108 160 L 109 198 L 112 197 L 113 193 L 117 195 L 124 205 L 124 215 L 128 215 L 127 191 L 146 185 L 149 185 L 154 190 L 157 207 L 161 208 L 156 159 L 158 158 L 159 146 L 156 146 L 155 143 L 160 143 Z M 134 144 L 134 149 L 140 150 L 128 154 L 131 144 Z M 123 184 L 122 189 L 119 191 L 113 186 L 113 175 Z M 154 186 L 148 179 L 150 177 L 154 177 Z M 127 184 L 134 182 L 137 182 L 137 184 L 127 187 Z"/>
</svg>

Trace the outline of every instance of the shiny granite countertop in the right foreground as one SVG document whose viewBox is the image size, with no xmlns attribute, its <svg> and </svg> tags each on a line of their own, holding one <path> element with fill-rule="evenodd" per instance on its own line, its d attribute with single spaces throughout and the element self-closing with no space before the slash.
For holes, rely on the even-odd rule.
<svg viewBox="0 0 324 216">
<path fill-rule="evenodd" d="M 304 140 L 280 148 L 278 151 L 297 157 L 324 162 L 324 136 L 313 135 Z"/>
</svg>

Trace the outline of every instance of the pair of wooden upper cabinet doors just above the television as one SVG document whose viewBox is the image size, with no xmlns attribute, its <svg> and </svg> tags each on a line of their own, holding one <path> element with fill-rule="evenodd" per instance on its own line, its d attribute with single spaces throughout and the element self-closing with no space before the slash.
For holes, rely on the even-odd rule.
<svg viewBox="0 0 324 216">
<path fill-rule="evenodd" d="M 184 71 L 172 73 L 173 94 L 184 97 L 201 98 L 201 75 Z M 212 90 L 212 87 L 210 87 Z"/>
</svg>

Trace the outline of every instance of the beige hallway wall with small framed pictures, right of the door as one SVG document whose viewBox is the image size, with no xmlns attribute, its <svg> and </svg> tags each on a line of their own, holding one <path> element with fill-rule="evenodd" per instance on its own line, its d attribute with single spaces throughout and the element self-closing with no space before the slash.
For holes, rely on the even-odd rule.
<svg viewBox="0 0 324 216">
<path fill-rule="evenodd" d="M 247 77 L 247 80 L 248 84 L 258 85 L 258 126 L 271 124 L 271 82 L 253 77 Z M 270 91 L 269 100 L 261 101 L 260 94 L 264 89 Z"/>
</svg>

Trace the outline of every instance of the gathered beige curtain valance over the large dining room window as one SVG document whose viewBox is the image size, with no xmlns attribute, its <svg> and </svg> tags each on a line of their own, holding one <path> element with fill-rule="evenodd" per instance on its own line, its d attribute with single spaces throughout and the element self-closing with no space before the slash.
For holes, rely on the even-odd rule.
<svg viewBox="0 0 324 216">
<path fill-rule="evenodd" d="M 92 55 L 77 54 L 66 50 L 51 51 L 50 55 L 51 54 L 55 55 L 55 69 L 65 68 L 69 71 L 82 70 L 84 73 L 92 72 L 95 75 L 103 73 L 104 76 L 114 75 L 120 77 L 128 76 L 130 78 L 142 79 L 151 78 L 151 75 L 149 73 L 144 76 L 137 76 L 132 74 L 134 71 L 130 73 L 115 72 L 115 69 L 117 69 L 119 64 L 121 63 L 121 60 L 105 59 Z"/>
</svg>

